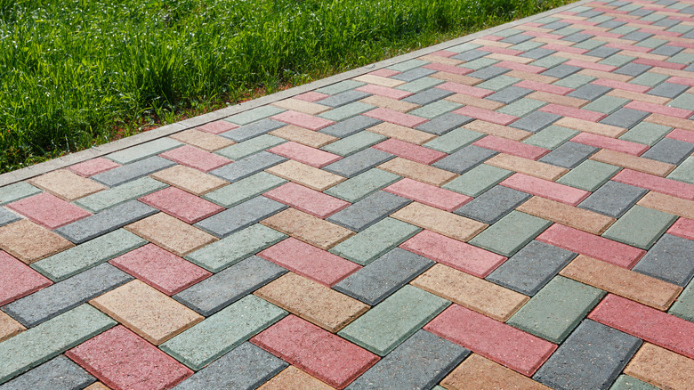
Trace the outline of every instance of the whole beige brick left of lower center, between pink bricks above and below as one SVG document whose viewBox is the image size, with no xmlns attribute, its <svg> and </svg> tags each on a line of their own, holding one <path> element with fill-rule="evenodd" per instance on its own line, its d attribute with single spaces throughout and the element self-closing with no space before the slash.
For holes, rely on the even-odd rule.
<svg viewBox="0 0 694 390">
<path fill-rule="evenodd" d="M 293 272 L 259 288 L 254 294 L 333 333 L 369 309 L 354 298 Z"/>
</svg>

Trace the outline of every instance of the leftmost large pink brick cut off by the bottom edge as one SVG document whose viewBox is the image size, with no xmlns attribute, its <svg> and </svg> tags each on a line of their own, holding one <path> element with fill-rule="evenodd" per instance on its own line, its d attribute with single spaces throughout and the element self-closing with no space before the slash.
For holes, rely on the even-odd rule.
<svg viewBox="0 0 694 390">
<path fill-rule="evenodd" d="M 114 390 L 172 388 L 193 371 L 118 325 L 65 353 Z"/>
</svg>

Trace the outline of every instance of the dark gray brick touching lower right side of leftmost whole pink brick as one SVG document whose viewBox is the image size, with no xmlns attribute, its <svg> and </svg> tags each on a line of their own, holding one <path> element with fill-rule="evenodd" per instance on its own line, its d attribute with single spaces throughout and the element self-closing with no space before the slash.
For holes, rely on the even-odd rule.
<svg viewBox="0 0 694 390">
<path fill-rule="evenodd" d="M 139 200 L 129 200 L 101 213 L 61 226 L 55 232 L 76 244 L 81 244 L 158 212 L 157 208 L 149 207 Z"/>
</svg>

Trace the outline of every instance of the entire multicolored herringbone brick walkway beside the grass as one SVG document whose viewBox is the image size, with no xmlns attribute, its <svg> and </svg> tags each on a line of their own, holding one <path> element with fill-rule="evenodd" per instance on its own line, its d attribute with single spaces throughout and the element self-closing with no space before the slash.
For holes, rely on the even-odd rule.
<svg viewBox="0 0 694 390">
<path fill-rule="evenodd" d="M 585 3 L 0 188 L 0 389 L 694 388 L 692 14 Z"/>
</svg>

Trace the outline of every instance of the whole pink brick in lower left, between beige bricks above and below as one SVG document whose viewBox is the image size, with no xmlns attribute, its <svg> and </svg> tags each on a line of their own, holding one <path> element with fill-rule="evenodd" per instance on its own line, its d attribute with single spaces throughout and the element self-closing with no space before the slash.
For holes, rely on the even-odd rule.
<svg viewBox="0 0 694 390">
<path fill-rule="evenodd" d="M 154 244 L 132 250 L 109 261 L 167 296 L 173 296 L 212 273 Z"/>
</svg>

